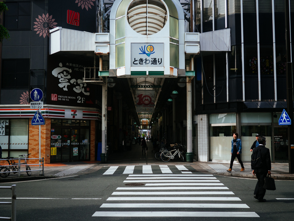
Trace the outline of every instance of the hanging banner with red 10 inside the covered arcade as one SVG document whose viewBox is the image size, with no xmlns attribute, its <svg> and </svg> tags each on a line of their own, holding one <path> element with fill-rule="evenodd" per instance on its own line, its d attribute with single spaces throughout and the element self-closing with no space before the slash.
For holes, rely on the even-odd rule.
<svg viewBox="0 0 294 221">
<path fill-rule="evenodd" d="M 136 112 L 154 113 L 155 90 L 136 91 Z"/>
</svg>

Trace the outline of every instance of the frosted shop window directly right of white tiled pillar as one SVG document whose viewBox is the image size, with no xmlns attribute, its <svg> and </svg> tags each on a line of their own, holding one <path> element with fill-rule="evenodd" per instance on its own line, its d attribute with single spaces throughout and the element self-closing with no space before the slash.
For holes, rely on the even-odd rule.
<svg viewBox="0 0 294 221">
<path fill-rule="evenodd" d="M 229 161 L 231 159 L 231 141 L 233 133 L 236 132 L 236 113 L 210 114 L 209 123 L 209 159 L 211 161 Z"/>
</svg>

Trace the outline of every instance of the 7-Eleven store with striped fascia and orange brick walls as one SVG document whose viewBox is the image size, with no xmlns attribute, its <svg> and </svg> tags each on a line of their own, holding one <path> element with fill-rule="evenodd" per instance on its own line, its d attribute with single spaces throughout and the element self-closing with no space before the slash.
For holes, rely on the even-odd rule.
<svg viewBox="0 0 294 221">
<path fill-rule="evenodd" d="M 39 126 L 32 126 L 36 110 L 29 105 L 1 105 L 2 157 L 31 154 L 39 157 Z M 95 160 L 96 128 L 101 112 L 95 108 L 44 105 L 41 109 L 41 157 L 45 163 Z M 98 142 L 98 141 L 97 141 Z"/>
</svg>

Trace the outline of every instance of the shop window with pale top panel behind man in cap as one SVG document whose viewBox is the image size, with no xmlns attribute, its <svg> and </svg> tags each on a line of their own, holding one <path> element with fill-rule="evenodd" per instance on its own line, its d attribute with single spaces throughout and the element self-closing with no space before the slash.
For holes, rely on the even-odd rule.
<svg viewBox="0 0 294 221">
<path fill-rule="evenodd" d="M 272 115 L 271 113 L 241 113 L 242 161 L 251 161 L 250 148 L 258 133 L 266 138 L 266 147 L 272 157 Z"/>
</svg>

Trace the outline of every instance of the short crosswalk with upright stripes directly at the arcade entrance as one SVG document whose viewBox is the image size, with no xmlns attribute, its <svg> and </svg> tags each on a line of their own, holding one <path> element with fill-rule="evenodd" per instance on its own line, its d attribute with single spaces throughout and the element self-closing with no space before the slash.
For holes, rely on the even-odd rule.
<svg viewBox="0 0 294 221">
<path fill-rule="evenodd" d="M 162 173 L 162 174 L 173 174 L 173 173 L 182 173 L 182 174 L 192 174 L 191 171 L 187 168 L 190 165 L 132 165 L 132 166 L 104 166 L 108 168 L 103 175 L 112 175 L 114 173 L 119 174 L 133 174 L 134 171 L 137 171 L 139 174 L 153 174 L 153 173 Z"/>
</svg>

